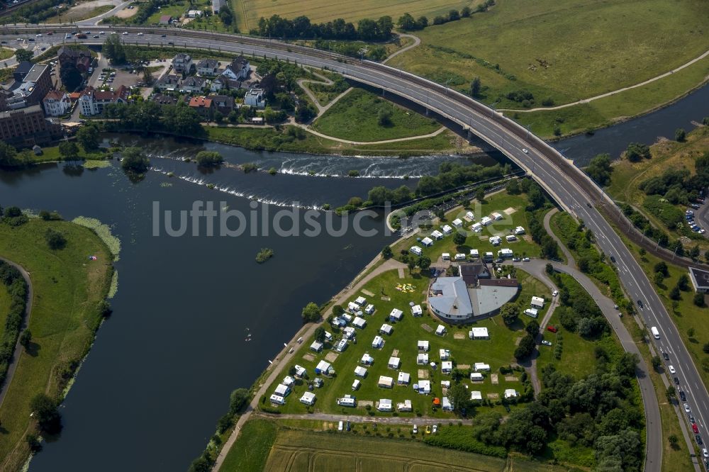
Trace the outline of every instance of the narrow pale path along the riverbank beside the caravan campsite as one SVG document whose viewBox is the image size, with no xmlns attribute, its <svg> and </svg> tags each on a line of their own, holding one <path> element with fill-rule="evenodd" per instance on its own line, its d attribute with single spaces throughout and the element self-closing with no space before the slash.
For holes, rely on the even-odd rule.
<svg viewBox="0 0 709 472">
<path fill-rule="evenodd" d="M 362 276 L 364 272 L 367 272 L 380 260 L 381 255 L 372 259 L 372 262 L 369 262 L 369 264 L 367 264 L 367 266 L 362 269 L 362 272 L 360 272 L 359 276 L 357 276 L 357 278 L 355 278 L 354 281 L 350 283 L 350 285 L 343 288 L 340 293 L 337 293 L 337 295 L 333 297 L 335 299 L 335 305 L 340 304 L 348 298 L 352 297 L 352 295 L 354 293 L 357 293 L 359 289 L 364 286 L 365 283 L 378 276 L 379 274 L 390 270 L 400 269 L 401 267 L 406 267 L 406 264 L 398 262 L 395 259 L 388 259 L 384 262 L 384 264 L 381 264 L 379 267 L 376 267 L 376 269 Z M 330 310 L 328 310 L 326 313 L 323 313 L 323 318 L 328 318 L 330 313 L 332 313 L 332 308 L 330 308 Z M 291 342 L 289 342 L 289 344 L 284 347 L 283 351 L 281 351 L 281 353 L 274 359 L 273 364 L 268 367 L 267 371 L 270 370 L 271 373 L 269 374 L 268 378 L 261 384 L 261 386 L 259 386 L 259 389 L 255 393 L 253 400 L 251 400 L 251 403 L 246 408 L 244 414 L 239 417 L 239 420 L 236 423 L 233 432 L 230 434 L 229 439 L 227 439 L 227 442 L 225 442 L 224 447 L 217 456 L 217 460 L 214 464 L 214 467 L 212 468 L 213 472 L 217 472 L 222 466 L 222 463 L 224 463 L 224 459 L 227 454 L 229 454 L 231 446 L 233 446 L 234 442 L 236 442 L 236 438 L 239 436 L 239 432 L 241 431 L 242 426 L 245 424 L 245 422 L 249 420 L 250 416 L 257 408 L 262 395 L 266 393 L 267 388 L 271 386 L 274 380 L 276 380 L 277 376 L 281 375 L 282 371 L 280 367 L 284 364 L 287 364 L 288 361 L 290 361 L 298 351 L 298 342 L 296 341 L 296 339 L 298 339 L 299 337 L 303 337 L 303 339 L 307 340 L 313 335 L 313 332 L 315 332 L 316 328 L 319 326 L 320 323 L 308 323 L 308 325 L 305 325 L 300 330 L 298 330 L 293 339 L 291 339 Z M 291 347 L 294 347 L 293 352 L 289 352 L 289 349 L 291 349 Z"/>
</svg>

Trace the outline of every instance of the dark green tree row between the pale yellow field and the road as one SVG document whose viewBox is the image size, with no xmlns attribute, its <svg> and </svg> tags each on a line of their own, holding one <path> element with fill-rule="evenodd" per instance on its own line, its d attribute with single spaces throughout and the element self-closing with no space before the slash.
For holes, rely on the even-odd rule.
<svg viewBox="0 0 709 472">
<path fill-rule="evenodd" d="M 335 39 L 335 40 L 362 40 L 386 41 L 391 38 L 393 22 L 391 16 L 382 16 L 379 20 L 364 18 L 353 23 L 345 22 L 342 18 L 327 23 L 311 23 L 307 16 L 298 16 L 292 20 L 273 15 L 271 18 L 259 19 L 258 27 L 251 30 L 254 35 L 283 38 L 283 39 Z"/>
</svg>

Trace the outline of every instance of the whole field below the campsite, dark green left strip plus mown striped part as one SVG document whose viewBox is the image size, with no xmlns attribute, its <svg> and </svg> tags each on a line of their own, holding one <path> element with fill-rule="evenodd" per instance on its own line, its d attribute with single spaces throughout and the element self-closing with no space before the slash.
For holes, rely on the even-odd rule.
<svg viewBox="0 0 709 472">
<path fill-rule="evenodd" d="M 314 464 L 318 471 L 354 471 L 361 463 L 368 471 L 458 471 L 492 472 L 523 470 L 530 472 L 565 471 L 567 468 L 528 461 L 517 456 L 497 459 L 470 452 L 428 446 L 409 437 L 411 427 L 353 425 L 352 432 L 337 433 L 337 422 L 306 420 L 263 420 L 255 418 L 244 425 L 242 434 L 229 451 L 222 471 L 301 471 Z M 406 434 L 403 434 L 403 433 Z M 441 436 L 469 436 L 469 427 L 443 426 Z M 359 469 L 357 469 L 359 470 Z"/>
</svg>

